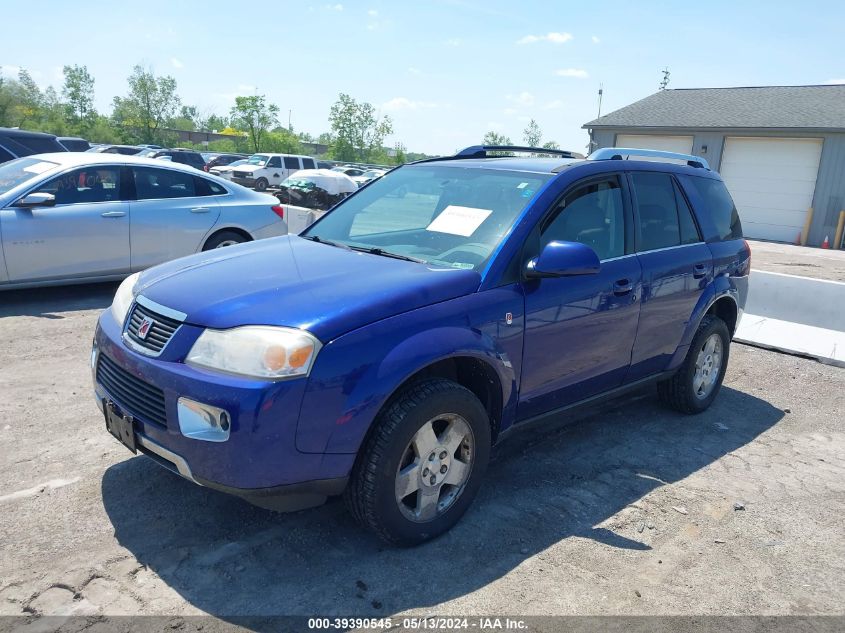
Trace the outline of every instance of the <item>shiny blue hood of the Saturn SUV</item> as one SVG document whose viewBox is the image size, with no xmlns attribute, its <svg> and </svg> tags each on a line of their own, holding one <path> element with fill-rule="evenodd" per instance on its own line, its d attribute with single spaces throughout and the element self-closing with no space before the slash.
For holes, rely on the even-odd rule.
<svg viewBox="0 0 845 633">
<path fill-rule="evenodd" d="M 474 270 L 360 253 L 295 235 L 197 253 L 144 272 L 139 294 L 225 329 L 280 325 L 323 342 L 478 289 Z"/>
</svg>

